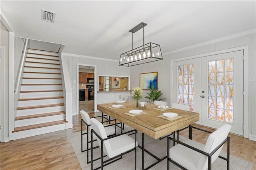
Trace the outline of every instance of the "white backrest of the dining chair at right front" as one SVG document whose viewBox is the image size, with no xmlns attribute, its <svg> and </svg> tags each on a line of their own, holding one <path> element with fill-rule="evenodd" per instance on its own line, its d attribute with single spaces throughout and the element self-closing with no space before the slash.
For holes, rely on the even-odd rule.
<svg viewBox="0 0 256 170">
<path fill-rule="evenodd" d="M 225 124 L 222 127 L 218 128 L 216 131 L 210 134 L 208 140 L 204 146 L 204 152 L 212 152 L 221 142 L 223 142 L 231 129 L 231 125 Z M 223 145 L 212 155 L 212 162 L 218 158 L 220 151 Z M 208 156 L 201 155 L 201 158 L 198 162 L 197 169 L 204 170 L 208 168 Z"/>
</svg>

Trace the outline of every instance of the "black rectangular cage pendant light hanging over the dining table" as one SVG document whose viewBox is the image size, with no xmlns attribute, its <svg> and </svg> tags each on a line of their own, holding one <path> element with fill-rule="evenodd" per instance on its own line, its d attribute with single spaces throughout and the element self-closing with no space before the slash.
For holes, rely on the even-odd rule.
<svg viewBox="0 0 256 170">
<path fill-rule="evenodd" d="M 143 28 L 143 45 L 134 49 L 132 47 L 132 50 L 122 53 L 119 65 L 130 67 L 163 59 L 160 45 L 152 42 L 144 43 L 144 27 L 146 25 L 146 23 L 142 22 L 129 31 L 132 33 L 133 38 L 133 33 Z"/>
</svg>

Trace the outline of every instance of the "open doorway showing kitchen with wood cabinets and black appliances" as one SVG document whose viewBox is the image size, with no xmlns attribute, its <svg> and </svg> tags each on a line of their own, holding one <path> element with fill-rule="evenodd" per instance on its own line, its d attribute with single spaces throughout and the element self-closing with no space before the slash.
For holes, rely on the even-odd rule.
<svg viewBox="0 0 256 170">
<path fill-rule="evenodd" d="M 92 66 L 78 65 L 78 112 L 94 112 L 94 69 Z"/>
</svg>

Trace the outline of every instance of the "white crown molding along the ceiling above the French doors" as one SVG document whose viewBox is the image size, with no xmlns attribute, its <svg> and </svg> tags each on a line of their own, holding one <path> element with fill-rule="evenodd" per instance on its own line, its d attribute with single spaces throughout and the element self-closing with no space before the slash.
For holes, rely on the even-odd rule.
<svg viewBox="0 0 256 170">
<path fill-rule="evenodd" d="M 172 51 L 168 51 L 166 53 L 162 53 L 162 55 L 178 53 L 180 51 L 186 51 L 187 49 L 202 47 L 204 45 L 209 45 L 209 44 L 212 44 L 212 43 L 222 42 L 222 41 L 226 41 L 226 40 L 230 40 L 230 39 L 233 39 L 233 38 L 238 38 L 238 37 L 242 37 L 242 36 L 246 36 L 246 35 L 250 35 L 250 34 L 254 34 L 254 33 L 256 33 L 256 29 L 248 30 L 248 31 L 245 31 L 245 32 L 240 32 L 238 34 L 233 34 L 233 35 L 222 37 L 222 38 L 217 38 L 217 39 L 214 39 L 214 40 L 210 40 L 208 42 L 198 43 L 198 44 L 183 47 L 183 48 L 180 48 L 180 49 L 175 49 L 175 50 L 172 50 Z"/>
</svg>

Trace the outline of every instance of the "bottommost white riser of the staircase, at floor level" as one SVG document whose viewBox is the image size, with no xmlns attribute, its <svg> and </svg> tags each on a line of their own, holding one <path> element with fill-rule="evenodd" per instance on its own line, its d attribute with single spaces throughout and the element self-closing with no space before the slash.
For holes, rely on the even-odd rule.
<svg viewBox="0 0 256 170">
<path fill-rule="evenodd" d="M 48 127 L 24 130 L 20 132 L 14 132 L 14 139 L 26 138 L 29 136 L 36 136 L 38 134 L 45 134 L 45 133 L 55 132 L 55 131 L 64 130 L 64 129 L 66 129 L 66 123 L 63 123 L 60 125 L 53 125 Z"/>
</svg>

